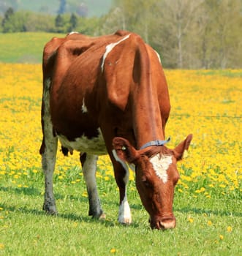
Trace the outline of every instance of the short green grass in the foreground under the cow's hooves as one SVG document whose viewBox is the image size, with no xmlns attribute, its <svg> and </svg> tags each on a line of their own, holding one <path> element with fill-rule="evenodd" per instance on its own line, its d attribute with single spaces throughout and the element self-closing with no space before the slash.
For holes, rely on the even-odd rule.
<svg viewBox="0 0 242 256">
<path fill-rule="evenodd" d="M 29 181 L 28 181 L 29 182 Z M 99 188 L 105 192 L 105 181 Z M 133 184 L 132 184 L 133 185 Z M 133 224 L 119 225 L 118 192 L 114 182 L 101 194 L 105 221 L 88 217 L 85 184 L 56 181 L 58 216 L 41 210 L 42 177 L 28 188 L 16 188 L 10 181 L 0 187 L 1 244 L 4 255 L 240 255 L 241 220 L 238 199 L 204 200 L 175 195 L 175 230 L 151 230 L 148 214 L 137 192 L 129 193 Z M 106 191 L 107 192 L 107 191 Z"/>
</svg>

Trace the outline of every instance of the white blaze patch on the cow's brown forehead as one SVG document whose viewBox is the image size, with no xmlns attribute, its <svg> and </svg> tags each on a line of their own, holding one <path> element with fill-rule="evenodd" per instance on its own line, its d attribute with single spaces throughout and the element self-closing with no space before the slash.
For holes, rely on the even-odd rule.
<svg viewBox="0 0 242 256">
<path fill-rule="evenodd" d="M 156 176 L 162 179 L 163 183 L 166 183 L 168 180 L 167 170 L 173 162 L 173 157 L 169 155 L 156 154 L 150 159 L 151 164 L 153 165 Z"/>
</svg>

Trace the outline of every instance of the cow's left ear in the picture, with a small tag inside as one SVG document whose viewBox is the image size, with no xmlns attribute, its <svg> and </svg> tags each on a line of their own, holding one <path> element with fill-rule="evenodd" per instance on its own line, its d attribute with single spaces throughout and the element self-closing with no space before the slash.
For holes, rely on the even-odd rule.
<svg viewBox="0 0 242 256">
<path fill-rule="evenodd" d="M 124 162 L 132 163 L 138 157 L 137 150 L 124 138 L 113 138 L 113 148 L 118 158 Z"/>
</svg>

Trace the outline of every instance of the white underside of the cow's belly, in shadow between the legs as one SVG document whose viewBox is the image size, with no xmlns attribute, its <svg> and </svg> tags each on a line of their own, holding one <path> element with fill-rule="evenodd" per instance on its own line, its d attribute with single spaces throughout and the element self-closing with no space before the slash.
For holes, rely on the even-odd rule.
<svg viewBox="0 0 242 256">
<path fill-rule="evenodd" d="M 80 138 L 75 138 L 75 140 L 68 140 L 64 135 L 57 135 L 61 142 L 61 146 L 68 148 L 70 152 L 76 150 L 80 152 L 86 152 L 90 154 L 107 154 L 107 149 L 105 146 L 105 141 L 102 137 L 102 132 L 99 129 L 98 137 L 87 138 L 85 135 Z"/>
</svg>

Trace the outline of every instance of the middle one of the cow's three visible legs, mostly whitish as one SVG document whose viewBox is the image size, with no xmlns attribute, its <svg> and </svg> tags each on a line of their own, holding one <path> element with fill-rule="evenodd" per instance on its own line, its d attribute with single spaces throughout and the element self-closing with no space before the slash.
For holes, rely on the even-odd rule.
<svg viewBox="0 0 242 256">
<path fill-rule="evenodd" d="M 94 218 L 105 218 L 97 192 L 97 156 L 86 153 L 80 154 L 80 162 L 83 167 L 83 176 L 85 178 L 86 188 L 88 191 L 89 215 Z"/>
</svg>

